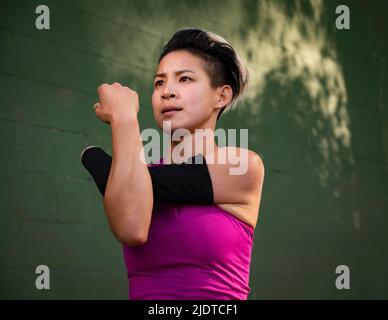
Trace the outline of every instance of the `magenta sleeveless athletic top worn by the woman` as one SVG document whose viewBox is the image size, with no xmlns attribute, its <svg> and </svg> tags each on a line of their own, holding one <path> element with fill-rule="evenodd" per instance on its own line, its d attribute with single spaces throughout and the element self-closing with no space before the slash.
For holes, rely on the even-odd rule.
<svg viewBox="0 0 388 320">
<path fill-rule="evenodd" d="M 123 246 L 129 299 L 246 300 L 253 240 L 216 204 L 154 205 L 147 242 Z"/>
</svg>

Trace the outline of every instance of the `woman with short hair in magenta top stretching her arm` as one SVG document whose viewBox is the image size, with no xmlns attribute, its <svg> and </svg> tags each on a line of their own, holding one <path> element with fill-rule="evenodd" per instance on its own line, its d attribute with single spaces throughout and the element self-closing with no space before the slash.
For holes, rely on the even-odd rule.
<svg viewBox="0 0 388 320">
<path fill-rule="evenodd" d="M 206 141 L 211 147 L 201 152 L 211 181 L 213 203 L 208 204 L 154 202 L 150 167 L 139 157 L 138 95 L 119 83 L 98 88 L 95 113 L 112 131 L 104 209 L 123 244 L 130 299 L 247 299 L 264 165 L 253 151 L 219 148 L 214 141 L 217 119 L 236 105 L 247 76 L 226 40 L 200 29 L 177 31 L 158 60 L 152 95 L 158 126 L 171 121 L 172 132 L 213 133 Z M 203 139 L 194 134 L 186 138 L 193 145 Z M 154 166 L 182 164 L 173 156 L 178 143 L 171 140 L 166 159 Z M 247 151 L 244 174 L 230 174 L 228 157 L 226 163 L 219 161 L 231 149 L 237 156 Z M 206 163 L 210 158 L 214 161 Z"/>
</svg>

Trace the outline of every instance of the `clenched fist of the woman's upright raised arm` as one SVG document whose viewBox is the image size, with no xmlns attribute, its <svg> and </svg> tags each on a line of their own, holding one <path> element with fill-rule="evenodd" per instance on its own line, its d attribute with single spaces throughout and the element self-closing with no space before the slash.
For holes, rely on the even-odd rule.
<svg viewBox="0 0 388 320">
<path fill-rule="evenodd" d="M 128 121 L 137 118 L 139 96 L 136 91 L 115 82 L 102 84 L 97 88 L 100 102 L 94 105 L 96 116 L 105 123 Z"/>
</svg>

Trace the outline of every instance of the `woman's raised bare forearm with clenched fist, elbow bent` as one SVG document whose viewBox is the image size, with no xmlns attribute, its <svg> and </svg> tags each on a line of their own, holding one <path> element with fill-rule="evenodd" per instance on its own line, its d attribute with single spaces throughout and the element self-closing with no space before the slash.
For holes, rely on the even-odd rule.
<svg viewBox="0 0 388 320">
<path fill-rule="evenodd" d="M 142 244 L 148 237 L 153 194 L 147 165 L 140 158 L 139 97 L 118 82 L 104 83 L 97 92 L 100 102 L 94 105 L 95 114 L 110 124 L 112 131 L 112 168 L 103 199 L 105 214 L 120 242 Z"/>
</svg>

